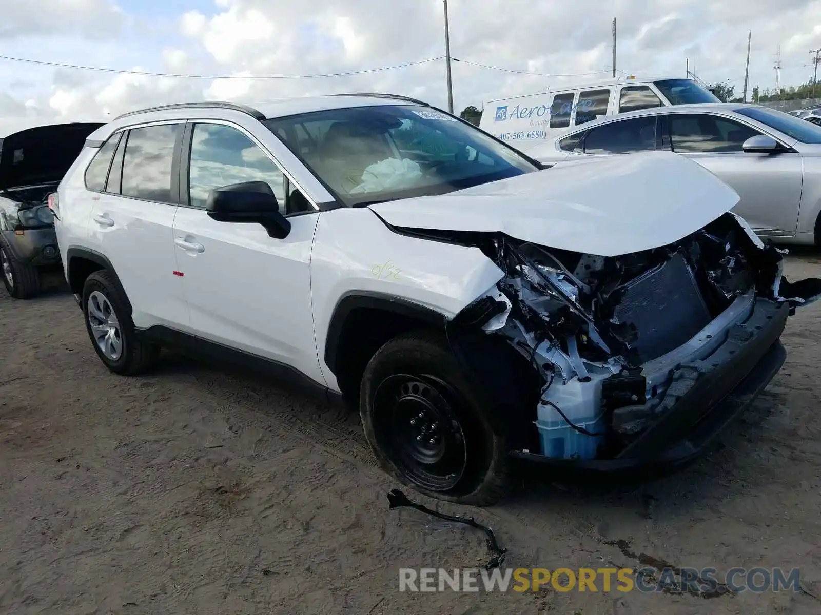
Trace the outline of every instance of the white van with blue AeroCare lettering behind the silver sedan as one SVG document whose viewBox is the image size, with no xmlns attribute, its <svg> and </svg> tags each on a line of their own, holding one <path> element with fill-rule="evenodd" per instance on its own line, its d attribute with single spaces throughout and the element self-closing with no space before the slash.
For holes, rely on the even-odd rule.
<svg viewBox="0 0 821 615">
<path fill-rule="evenodd" d="M 599 116 L 649 107 L 720 102 L 709 89 L 691 79 L 610 79 L 488 101 L 479 128 L 525 150 Z"/>
</svg>

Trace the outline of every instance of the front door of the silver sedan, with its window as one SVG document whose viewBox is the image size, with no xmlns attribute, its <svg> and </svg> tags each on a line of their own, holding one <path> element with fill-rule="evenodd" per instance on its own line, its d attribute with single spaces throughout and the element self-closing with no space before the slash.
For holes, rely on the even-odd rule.
<svg viewBox="0 0 821 615">
<path fill-rule="evenodd" d="M 800 153 L 745 153 L 754 127 L 710 113 L 665 115 L 667 148 L 713 171 L 741 197 L 733 211 L 760 235 L 795 235 L 801 201 Z"/>
</svg>

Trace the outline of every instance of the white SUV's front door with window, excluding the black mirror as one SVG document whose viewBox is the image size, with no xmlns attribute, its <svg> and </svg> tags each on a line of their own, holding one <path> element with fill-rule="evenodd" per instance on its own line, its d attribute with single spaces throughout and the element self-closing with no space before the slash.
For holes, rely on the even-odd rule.
<svg viewBox="0 0 821 615">
<path fill-rule="evenodd" d="M 218 222 L 205 212 L 210 189 L 252 180 L 273 189 L 291 222 L 285 239 L 269 237 L 259 224 Z M 235 125 L 192 125 L 187 183 L 188 205 L 177 212 L 173 243 L 192 332 L 295 367 L 324 384 L 310 298 L 319 212 L 295 198 L 296 190 L 264 148 Z"/>
</svg>

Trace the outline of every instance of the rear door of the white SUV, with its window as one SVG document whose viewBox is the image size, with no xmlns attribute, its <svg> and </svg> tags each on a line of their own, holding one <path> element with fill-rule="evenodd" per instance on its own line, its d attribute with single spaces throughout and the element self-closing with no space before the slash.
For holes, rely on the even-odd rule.
<svg viewBox="0 0 821 615">
<path fill-rule="evenodd" d="M 167 122 L 124 131 L 105 189 L 94 196 L 89 241 L 117 272 L 138 328 L 188 323 L 172 236 L 183 126 Z"/>
</svg>

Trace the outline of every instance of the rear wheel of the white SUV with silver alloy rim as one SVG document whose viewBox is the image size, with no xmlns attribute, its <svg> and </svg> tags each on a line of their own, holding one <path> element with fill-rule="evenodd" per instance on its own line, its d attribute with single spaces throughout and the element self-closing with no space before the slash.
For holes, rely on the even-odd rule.
<svg viewBox="0 0 821 615">
<path fill-rule="evenodd" d="M 83 285 L 83 315 L 94 351 L 108 369 L 136 376 L 154 365 L 159 348 L 139 339 L 126 296 L 108 271 L 94 271 Z"/>
</svg>

